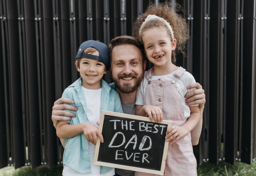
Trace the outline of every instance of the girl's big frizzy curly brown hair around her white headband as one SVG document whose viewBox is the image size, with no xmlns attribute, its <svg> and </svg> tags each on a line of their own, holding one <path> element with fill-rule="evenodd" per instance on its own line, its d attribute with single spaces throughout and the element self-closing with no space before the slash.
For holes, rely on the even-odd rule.
<svg viewBox="0 0 256 176">
<path fill-rule="evenodd" d="M 173 28 L 174 38 L 177 40 L 175 50 L 177 52 L 181 52 L 185 56 L 186 54 L 184 50 L 186 48 L 186 42 L 189 38 L 188 24 L 186 22 L 186 19 L 184 19 L 181 15 L 177 14 L 173 7 L 176 8 L 176 11 L 183 12 L 182 7 L 179 4 L 164 2 L 158 3 L 158 5 L 156 6 L 155 4 L 151 3 L 147 7 L 147 10 L 134 22 L 132 34 L 134 37 L 138 38 L 140 42 L 142 42 L 143 32 L 145 32 L 147 29 L 161 26 L 166 29 L 166 32 L 168 33 L 170 39 L 172 39 L 169 28 L 161 20 L 150 20 L 149 22 L 147 22 L 141 29 L 141 35 L 139 35 L 140 26 L 145 21 L 148 15 L 156 15 L 158 17 L 164 18 Z M 176 61 L 174 51 L 172 52 L 172 61 Z"/>
</svg>

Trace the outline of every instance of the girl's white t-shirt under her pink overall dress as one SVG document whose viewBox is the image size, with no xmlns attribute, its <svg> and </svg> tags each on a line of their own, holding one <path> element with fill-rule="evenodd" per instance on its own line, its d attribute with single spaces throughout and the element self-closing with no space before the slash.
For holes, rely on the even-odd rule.
<svg viewBox="0 0 256 176">
<path fill-rule="evenodd" d="M 146 75 L 147 72 L 145 72 L 145 75 Z M 158 80 L 158 79 L 161 79 L 162 81 L 168 81 L 168 80 L 173 80 L 173 77 L 174 77 L 174 73 L 170 73 L 170 74 L 167 74 L 167 75 L 161 75 L 161 76 L 152 76 L 151 80 Z M 175 77 L 175 80 L 177 80 L 177 78 Z M 189 106 L 186 104 L 185 102 L 185 95 L 187 92 L 190 92 L 194 89 L 187 89 L 187 86 L 189 84 L 192 84 L 192 83 L 195 83 L 196 80 L 195 78 L 192 76 L 192 74 L 188 73 L 187 71 L 185 71 L 181 78 L 179 78 L 177 81 L 176 81 L 176 84 L 177 84 L 177 90 L 179 92 L 179 95 L 181 97 L 181 102 L 182 102 L 182 105 L 183 105 L 183 108 L 184 108 L 184 117 L 185 119 L 187 119 L 189 116 L 190 116 L 190 109 L 189 109 Z M 144 95 L 145 95 L 145 91 L 146 91 L 146 87 L 147 87 L 147 84 L 148 84 L 148 81 L 147 79 L 145 78 L 144 76 L 144 79 L 143 81 L 141 82 L 139 88 L 138 88 L 138 91 L 137 91 L 137 95 L 136 95 L 136 105 L 144 105 Z M 193 105 L 193 106 L 198 106 L 197 105 Z"/>
</svg>

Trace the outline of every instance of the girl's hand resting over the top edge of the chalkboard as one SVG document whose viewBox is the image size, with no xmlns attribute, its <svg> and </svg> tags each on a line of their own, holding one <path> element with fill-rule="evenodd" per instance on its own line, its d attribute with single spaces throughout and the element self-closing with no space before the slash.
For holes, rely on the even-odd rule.
<svg viewBox="0 0 256 176">
<path fill-rule="evenodd" d="M 152 105 L 144 105 L 143 110 L 145 111 L 145 113 L 148 114 L 150 121 L 153 121 L 153 118 L 154 121 L 158 123 L 163 121 L 163 113 L 159 107 Z"/>
</svg>

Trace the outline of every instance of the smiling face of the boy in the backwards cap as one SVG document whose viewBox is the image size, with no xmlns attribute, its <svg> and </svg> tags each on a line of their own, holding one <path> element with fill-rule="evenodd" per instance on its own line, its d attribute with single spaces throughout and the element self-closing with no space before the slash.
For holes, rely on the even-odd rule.
<svg viewBox="0 0 256 176">
<path fill-rule="evenodd" d="M 98 51 L 87 54 L 99 56 Z M 83 78 L 82 86 L 84 88 L 99 89 L 102 87 L 100 80 L 103 75 L 107 73 L 107 71 L 105 70 L 105 65 L 102 62 L 93 59 L 82 58 L 80 61 L 80 66 L 77 66 L 76 68 L 77 71 L 80 72 L 81 77 Z"/>
</svg>

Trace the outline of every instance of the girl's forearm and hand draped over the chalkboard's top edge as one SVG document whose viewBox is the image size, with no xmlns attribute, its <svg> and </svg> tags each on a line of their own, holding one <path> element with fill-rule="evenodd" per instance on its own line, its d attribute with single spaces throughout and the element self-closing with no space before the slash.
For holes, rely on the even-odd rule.
<svg viewBox="0 0 256 176">
<path fill-rule="evenodd" d="M 162 110 L 157 106 L 152 105 L 136 105 L 136 113 L 135 115 L 149 117 L 151 121 L 161 122 L 163 121 L 163 113 Z M 152 117 L 153 116 L 153 117 Z"/>
</svg>

